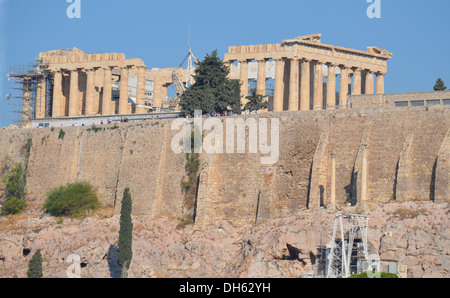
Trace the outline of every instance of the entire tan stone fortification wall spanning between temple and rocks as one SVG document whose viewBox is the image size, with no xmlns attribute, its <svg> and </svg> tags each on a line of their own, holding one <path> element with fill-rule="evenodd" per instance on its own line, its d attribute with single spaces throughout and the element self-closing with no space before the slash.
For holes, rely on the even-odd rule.
<svg viewBox="0 0 450 298">
<path fill-rule="evenodd" d="M 449 122 L 446 108 L 284 112 L 246 117 L 280 119 L 280 156 L 272 166 L 259 154 L 205 154 L 196 202 L 196 227 L 220 220 L 263 223 L 304 208 L 329 205 L 330 153 L 336 152 L 336 204 L 361 203 L 362 146 L 367 146 L 367 202 L 411 199 L 449 202 Z M 27 158 L 27 212 L 42 214 L 54 186 L 88 180 L 101 201 L 120 212 L 130 187 L 135 214 L 183 215 L 184 154 L 171 150 L 178 131 L 170 120 L 92 127 L 0 130 L 5 157 Z M 0 194 L 4 192 L 0 185 Z"/>
</svg>

